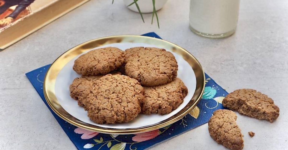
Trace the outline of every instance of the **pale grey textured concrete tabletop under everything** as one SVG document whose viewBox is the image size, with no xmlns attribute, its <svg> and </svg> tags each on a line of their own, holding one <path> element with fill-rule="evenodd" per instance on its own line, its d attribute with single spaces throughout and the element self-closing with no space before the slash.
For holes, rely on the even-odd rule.
<svg viewBox="0 0 288 150">
<path fill-rule="evenodd" d="M 209 39 L 188 28 L 189 0 L 168 1 L 158 11 L 160 29 L 151 14 L 127 9 L 123 1 L 91 0 L 0 52 L 0 149 L 75 149 L 25 76 L 52 63 L 69 48 L 90 39 L 154 31 L 189 50 L 228 92 L 252 88 L 280 107 L 274 123 L 238 114 L 244 149 L 287 149 L 288 1 L 242 0 L 238 28 L 225 39 Z M 250 138 L 249 131 L 255 132 Z M 205 124 L 152 149 L 223 149 Z"/>
</svg>

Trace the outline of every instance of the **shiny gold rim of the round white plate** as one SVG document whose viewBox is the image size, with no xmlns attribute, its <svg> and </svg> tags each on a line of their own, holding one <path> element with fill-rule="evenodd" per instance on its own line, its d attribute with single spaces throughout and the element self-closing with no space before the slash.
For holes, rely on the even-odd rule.
<svg viewBox="0 0 288 150">
<path fill-rule="evenodd" d="M 56 77 L 58 76 L 58 73 L 60 70 L 74 57 L 76 57 L 79 54 L 82 54 L 83 52 L 86 52 L 87 50 L 91 50 L 93 48 L 96 48 L 98 46 L 104 46 L 107 44 L 112 43 L 124 43 L 124 42 L 132 42 L 132 43 L 145 43 L 145 44 L 151 44 L 163 47 L 165 49 L 172 50 L 173 52 L 179 54 L 183 57 L 185 61 L 187 61 L 192 69 L 194 70 L 195 76 L 196 76 L 196 90 L 195 93 L 190 100 L 190 102 L 177 114 L 171 116 L 170 118 L 163 120 L 161 122 L 158 122 L 156 124 L 152 124 L 149 126 L 143 126 L 140 128 L 128 128 L 128 129 L 116 129 L 116 128 L 105 128 L 100 127 L 92 124 L 88 124 L 86 122 L 83 122 L 72 115 L 70 115 L 68 112 L 66 112 L 60 103 L 58 102 L 56 95 L 55 95 L 55 82 Z M 148 36 L 137 36 L 137 35 L 119 35 L 119 36 L 107 36 L 103 38 L 97 38 L 94 40 L 90 40 L 87 42 L 84 42 L 82 44 L 79 44 L 69 50 L 67 50 L 65 53 L 63 53 L 61 56 L 59 56 L 50 66 L 48 69 L 44 84 L 43 84 L 43 91 L 45 99 L 50 106 L 50 108 L 62 119 L 69 122 L 70 124 L 73 124 L 77 127 L 84 128 L 87 130 L 91 130 L 94 132 L 99 133 L 108 133 L 108 134 L 136 134 L 136 133 L 142 133 L 142 132 L 148 132 L 151 130 L 156 130 L 159 128 L 162 128 L 164 126 L 170 125 L 182 117 L 184 117 L 186 114 L 188 114 L 200 101 L 205 86 L 205 75 L 204 71 L 198 62 L 198 60 L 190 54 L 187 50 L 181 48 L 180 46 L 173 44 L 171 42 L 158 39 L 158 38 L 152 38 Z"/>
</svg>

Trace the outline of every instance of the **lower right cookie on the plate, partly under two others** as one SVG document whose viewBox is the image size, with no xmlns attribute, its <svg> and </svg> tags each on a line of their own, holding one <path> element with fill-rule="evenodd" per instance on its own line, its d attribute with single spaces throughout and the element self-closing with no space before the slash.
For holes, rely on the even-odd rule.
<svg viewBox="0 0 288 150">
<path fill-rule="evenodd" d="M 141 113 L 144 114 L 169 114 L 180 104 L 188 93 L 187 87 L 179 78 L 175 78 L 172 82 L 144 87 L 145 99 L 141 106 Z"/>
</svg>

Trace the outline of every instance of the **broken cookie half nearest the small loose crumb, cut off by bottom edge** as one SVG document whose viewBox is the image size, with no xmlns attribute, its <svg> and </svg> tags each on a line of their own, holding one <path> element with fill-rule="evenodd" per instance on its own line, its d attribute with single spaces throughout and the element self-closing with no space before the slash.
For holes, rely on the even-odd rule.
<svg viewBox="0 0 288 150">
<path fill-rule="evenodd" d="M 237 115 L 231 110 L 218 109 L 208 122 L 210 136 L 228 149 L 243 149 L 241 129 L 236 124 Z"/>
</svg>

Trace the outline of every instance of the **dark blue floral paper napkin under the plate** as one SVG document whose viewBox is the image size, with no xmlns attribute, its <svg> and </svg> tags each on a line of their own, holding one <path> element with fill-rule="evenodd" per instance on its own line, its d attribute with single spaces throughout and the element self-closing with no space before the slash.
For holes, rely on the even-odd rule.
<svg viewBox="0 0 288 150">
<path fill-rule="evenodd" d="M 160 38 L 154 32 L 143 34 L 142 36 Z M 146 133 L 109 135 L 78 128 L 66 122 L 51 110 L 43 94 L 43 81 L 50 65 L 26 73 L 26 76 L 77 149 L 141 150 L 153 147 L 154 145 L 207 123 L 215 110 L 223 109 L 221 103 L 223 98 L 228 94 L 222 87 L 215 83 L 211 77 L 205 74 L 206 85 L 202 100 L 196 108 L 179 121 L 164 128 Z"/>
</svg>

